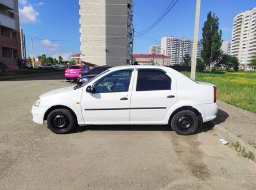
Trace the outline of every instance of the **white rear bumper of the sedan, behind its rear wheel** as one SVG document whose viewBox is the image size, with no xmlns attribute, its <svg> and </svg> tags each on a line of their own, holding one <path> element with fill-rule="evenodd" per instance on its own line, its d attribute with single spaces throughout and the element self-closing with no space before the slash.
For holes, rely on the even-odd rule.
<svg viewBox="0 0 256 190">
<path fill-rule="evenodd" d="M 217 103 L 199 104 L 193 107 L 201 113 L 203 122 L 209 122 L 217 117 Z"/>
</svg>

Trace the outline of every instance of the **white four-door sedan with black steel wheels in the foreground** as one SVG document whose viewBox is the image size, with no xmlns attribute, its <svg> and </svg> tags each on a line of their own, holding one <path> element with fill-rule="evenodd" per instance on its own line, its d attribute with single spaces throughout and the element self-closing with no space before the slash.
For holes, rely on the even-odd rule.
<svg viewBox="0 0 256 190">
<path fill-rule="evenodd" d="M 49 91 L 32 107 L 33 121 L 54 133 L 76 125 L 169 125 L 180 135 L 215 119 L 216 87 L 169 67 L 109 68 L 81 86 Z"/>
</svg>

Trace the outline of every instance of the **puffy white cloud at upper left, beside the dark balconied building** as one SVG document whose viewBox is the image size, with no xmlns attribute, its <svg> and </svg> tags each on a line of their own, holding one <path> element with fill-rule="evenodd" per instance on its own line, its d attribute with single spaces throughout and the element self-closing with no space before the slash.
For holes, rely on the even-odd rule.
<svg viewBox="0 0 256 190">
<path fill-rule="evenodd" d="M 22 9 L 19 9 L 20 12 L 20 22 L 21 23 L 35 23 L 39 22 L 39 12 L 37 12 L 33 6 L 28 5 L 24 6 Z"/>
</svg>

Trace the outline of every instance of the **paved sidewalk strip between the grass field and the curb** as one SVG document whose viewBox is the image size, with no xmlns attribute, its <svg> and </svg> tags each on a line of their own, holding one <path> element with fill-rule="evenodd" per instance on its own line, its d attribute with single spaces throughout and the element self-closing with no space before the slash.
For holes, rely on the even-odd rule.
<svg viewBox="0 0 256 190">
<path fill-rule="evenodd" d="M 242 139 L 256 148 L 256 114 L 217 100 L 219 111 L 213 123 L 224 133 L 233 133 L 233 139 Z M 214 128 L 215 129 L 215 128 Z M 223 136 L 225 137 L 225 136 Z"/>
</svg>

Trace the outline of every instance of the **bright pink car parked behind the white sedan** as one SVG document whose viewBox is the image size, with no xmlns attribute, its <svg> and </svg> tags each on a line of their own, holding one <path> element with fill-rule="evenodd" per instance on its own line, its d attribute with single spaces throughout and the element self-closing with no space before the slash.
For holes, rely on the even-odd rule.
<svg viewBox="0 0 256 190">
<path fill-rule="evenodd" d="M 87 65 L 72 65 L 68 67 L 65 71 L 65 77 L 67 81 L 76 80 L 79 78 L 79 73 L 87 72 L 89 67 Z"/>
</svg>

